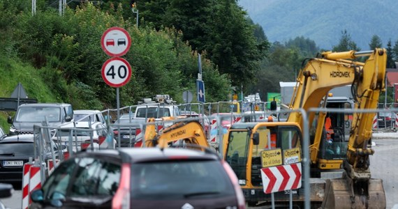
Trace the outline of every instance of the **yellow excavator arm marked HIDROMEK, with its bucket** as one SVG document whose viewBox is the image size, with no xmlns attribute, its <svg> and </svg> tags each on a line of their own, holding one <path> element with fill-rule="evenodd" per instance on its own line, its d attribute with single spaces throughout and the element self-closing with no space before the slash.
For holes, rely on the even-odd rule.
<svg viewBox="0 0 398 209">
<path fill-rule="evenodd" d="M 355 61 L 368 57 L 364 63 Z M 327 93 L 335 87 L 351 84 L 355 109 L 376 109 L 381 91 L 385 91 L 385 49 L 367 52 L 325 52 L 321 58 L 310 59 L 297 78 L 297 85 L 290 102 L 291 109 L 318 107 L 321 100 L 326 102 Z M 327 181 L 325 208 L 385 208 L 385 194 L 381 180 L 371 180 L 369 155 L 374 150 L 367 147 L 371 138 L 372 119 L 375 113 L 355 112 L 344 169 L 344 179 Z M 315 113 L 309 113 L 309 125 Z M 320 113 L 316 136 L 310 146 L 311 162 L 316 162 L 323 130 L 325 113 Z M 292 112 L 288 122 L 299 123 L 302 116 Z M 341 191 L 337 192 L 338 188 Z M 346 192 L 346 193 L 344 193 Z M 340 199 L 341 201 L 337 201 Z M 346 200 L 346 201 L 344 201 Z M 377 201 L 374 202 L 374 201 Z"/>
</svg>

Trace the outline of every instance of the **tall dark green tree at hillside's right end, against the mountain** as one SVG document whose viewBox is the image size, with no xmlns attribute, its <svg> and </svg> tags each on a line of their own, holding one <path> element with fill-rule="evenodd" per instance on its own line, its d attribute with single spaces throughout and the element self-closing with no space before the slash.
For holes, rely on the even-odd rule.
<svg viewBox="0 0 398 209">
<path fill-rule="evenodd" d="M 221 73 L 230 75 L 233 86 L 254 82 L 259 61 L 265 56 L 265 48 L 253 36 L 253 26 L 246 21 L 246 13 L 236 1 L 216 1 L 211 36 L 206 42 L 209 58 Z"/>
</svg>

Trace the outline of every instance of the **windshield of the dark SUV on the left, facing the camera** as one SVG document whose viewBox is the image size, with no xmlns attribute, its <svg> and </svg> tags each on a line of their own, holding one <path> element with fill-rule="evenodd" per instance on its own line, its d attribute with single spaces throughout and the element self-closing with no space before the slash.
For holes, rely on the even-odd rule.
<svg viewBox="0 0 398 209">
<path fill-rule="evenodd" d="M 15 121 L 40 123 L 45 121 L 61 121 L 61 108 L 59 107 L 20 107 Z"/>
</svg>

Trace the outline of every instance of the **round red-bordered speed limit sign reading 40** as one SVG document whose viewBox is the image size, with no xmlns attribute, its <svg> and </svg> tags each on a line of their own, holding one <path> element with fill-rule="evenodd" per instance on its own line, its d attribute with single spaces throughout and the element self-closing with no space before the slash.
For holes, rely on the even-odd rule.
<svg viewBox="0 0 398 209">
<path fill-rule="evenodd" d="M 103 63 L 101 75 L 109 86 L 124 86 L 130 81 L 131 65 L 123 58 L 112 57 Z"/>
</svg>

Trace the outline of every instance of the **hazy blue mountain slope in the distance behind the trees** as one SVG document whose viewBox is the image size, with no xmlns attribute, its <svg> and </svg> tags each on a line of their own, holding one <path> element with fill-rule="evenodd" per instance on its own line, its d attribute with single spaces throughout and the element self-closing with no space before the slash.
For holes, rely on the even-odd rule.
<svg viewBox="0 0 398 209">
<path fill-rule="evenodd" d="M 332 49 L 344 30 L 361 50 L 369 49 L 374 35 L 383 47 L 390 39 L 392 45 L 398 40 L 398 1 L 239 0 L 238 4 L 263 27 L 270 42 L 304 36 L 322 49 Z"/>
</svg>

